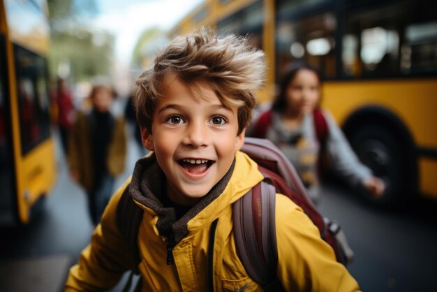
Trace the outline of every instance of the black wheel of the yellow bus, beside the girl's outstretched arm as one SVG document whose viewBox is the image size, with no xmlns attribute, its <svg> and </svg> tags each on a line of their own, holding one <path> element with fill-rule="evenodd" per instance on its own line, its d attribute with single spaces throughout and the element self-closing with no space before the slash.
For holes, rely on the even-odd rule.
<svg viewBox="0 0 437 292">
<path fill-rule="evenodd" d="M 406 198 L 403 193 L 411 189 L 406 184 L 413 180 L 413 177 L 408 177 L 408 163 L 403 159 L 408 156 L 401 140 L 389 129 L 376 124 L 355 129 L 349 138 L 360 161 L 385 182 L 383 196 L 373 198 L 366 191 L 362 192 L 362 196 L 378 205 L 401 203 Z"/>
</svg>

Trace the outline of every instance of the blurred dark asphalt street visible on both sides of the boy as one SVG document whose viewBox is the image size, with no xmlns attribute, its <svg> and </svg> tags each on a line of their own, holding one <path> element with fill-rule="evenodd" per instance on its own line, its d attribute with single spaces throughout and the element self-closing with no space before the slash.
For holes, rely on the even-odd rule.
<svg viewBox="0 0 437 292">
<path fill-rule="evenodd" d="M 131 140 L 124 182 L 140 156 Z M 24 228 L 2 228 L 0 291 L 61 291 L 92 232 L 84 192 L 68 177 L 57 149 L 57 184 L 38 219 Z M 350 189 L 326 184 L 320 211 L 336 219 L 355 251 L 348 266 L 362 291 L 436 291 L 437 204 L 419 200 L 397 211 L 368 205 Z M 123 283 L 113 291 L 121 291 Z"/>
</svg>

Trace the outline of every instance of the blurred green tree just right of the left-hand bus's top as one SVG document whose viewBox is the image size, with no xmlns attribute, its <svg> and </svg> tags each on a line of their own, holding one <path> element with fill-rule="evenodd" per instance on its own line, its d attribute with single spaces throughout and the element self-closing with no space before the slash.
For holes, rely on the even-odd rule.
<svg viewBox="0 0 437 292">
<path fill-rule="evenodd" d="M 50 77 L 90 80 L 110 75 L 114 36 L 89 24 L 98 14 L 95 0 L 48 0 L 51 29 Z"/>
</svg>

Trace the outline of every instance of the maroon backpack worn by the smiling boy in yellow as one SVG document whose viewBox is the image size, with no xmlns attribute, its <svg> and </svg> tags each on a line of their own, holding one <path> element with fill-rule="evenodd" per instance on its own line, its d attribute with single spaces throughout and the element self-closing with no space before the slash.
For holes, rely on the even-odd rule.
<svg viewBox="0 0 437 292">
<path fill-rule="evenodd" d="M 269 140 L 245 138 L 242 152 L 258 163 L 265 179 L 255 185 L 232 205 L 235 245 L 246 272 L 265 291 L 281 291 L 276 277 L 277 247 L 275 228 L 276 193 L 288 196 L 313 221 L 333 249 L 336 260 L 346 265 L 353 260 L 353 251 L 336 221 L 323 218 L 313 205 L 295 168 L 287 157 Z M 117 225 L 133 258 L 133 272 L 139 273 L 138 228 L 142 209 L 128 194 L 126 187 L 117 206 Z M 131 274 L 132 276 L 132 274 Z M 128 281 L 129 285 L 131 277 Z"/>
</svg>

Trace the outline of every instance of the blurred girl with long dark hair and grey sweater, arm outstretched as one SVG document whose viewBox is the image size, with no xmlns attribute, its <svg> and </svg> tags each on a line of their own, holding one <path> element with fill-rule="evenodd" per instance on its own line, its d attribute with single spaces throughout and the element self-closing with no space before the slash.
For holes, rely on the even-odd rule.
<svg viewBox="0 0 437 292">
<path fill-rule="evenodd" d="M 260 114 L 248 136 L 267 138 L 276 144 L 295 166 L 315 202 L 319 200 L 320 156 L 325 153 L 334 173 L 354 187 L 362 185 L 372 196 L 382 196 L 383 180 L 357 159 L 332 116 L 319 108 L 321 87 L 315 68 L 308 64 L 292 67 L 283 78 L 271 110 Z M 326 128 L 321 140 L 317 129 L 320 120 Z"/>
</svg>

